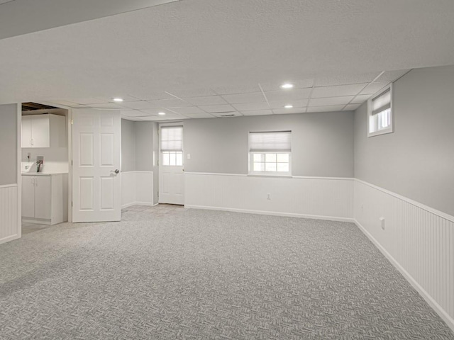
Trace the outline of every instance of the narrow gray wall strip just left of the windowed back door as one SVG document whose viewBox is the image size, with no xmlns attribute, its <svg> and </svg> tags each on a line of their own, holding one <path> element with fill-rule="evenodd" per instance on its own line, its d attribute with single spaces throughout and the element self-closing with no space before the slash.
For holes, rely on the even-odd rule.
<svg viewBox="0 0 454 340">
<path fill-rule="evenodd" d="M 135 170 L 153 171 L 153 122 L 135 122 Z"/>
</svg>

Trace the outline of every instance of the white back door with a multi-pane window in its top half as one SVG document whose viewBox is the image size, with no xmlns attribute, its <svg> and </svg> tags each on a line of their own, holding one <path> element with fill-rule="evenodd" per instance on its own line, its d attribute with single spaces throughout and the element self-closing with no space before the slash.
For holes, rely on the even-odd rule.
<svg viewBox="0 0 454 340">
<path fill-rule="evenodd" d="M 160 127 L 159 203 L 184 205 L 183 127 Z"/>
</svg>

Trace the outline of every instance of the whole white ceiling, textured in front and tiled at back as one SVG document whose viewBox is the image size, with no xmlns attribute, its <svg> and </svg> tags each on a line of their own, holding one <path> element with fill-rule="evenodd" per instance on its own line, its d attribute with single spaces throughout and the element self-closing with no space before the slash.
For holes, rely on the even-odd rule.
<svg viewBox="0 0 454 340">
<path fill-rule="evenodd" d="M 132 120 L 353 110 L 454 64 L 453 22 L 451 0 L 175 1 L 0 39 L 0 103 Z"/>
</svg>

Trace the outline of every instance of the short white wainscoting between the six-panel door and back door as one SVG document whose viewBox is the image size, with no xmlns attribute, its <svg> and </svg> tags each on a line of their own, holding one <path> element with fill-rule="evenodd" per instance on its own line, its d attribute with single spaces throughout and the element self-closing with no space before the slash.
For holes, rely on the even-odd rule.
<svg viewBox="0 0 454 340">
<path fill-rule="evenodd" d="M 121 173 L 121 207 L 153 205 L 153 171 Z"/>
</svg>

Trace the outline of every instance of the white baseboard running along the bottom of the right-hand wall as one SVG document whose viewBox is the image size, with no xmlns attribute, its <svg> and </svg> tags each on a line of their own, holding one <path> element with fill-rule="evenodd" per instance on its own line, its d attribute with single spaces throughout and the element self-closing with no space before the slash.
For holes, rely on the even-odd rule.
<svg viewBox="0 0 454 340">
<path fill-rule="evenodd" d="M 392 257 L 392 255 L 389 254 L 389 252 L 386 249 L 384 249 L 384 247 L 374 237 L 372 237 L 372 234 L 367 232 L 365 227 L 363 227 L 360 224 L 360 222 L 358 222 L 355 219 L 353 219 L 353 222 L 355 222 L 355 225 L 358 226 L 358 228 L 363 232 L 363 234 L 365 234 L 367 236 L 367 238 L 370 239 L 370 241 L 373 244 L 375 244 L 375 246 L 377 246 L 377 248 L 388 259 L 388 261 L 391 262 L 393 264 L 393 266 L 395 268 L 397 268 L 397 270 L 402 274 L 402 276 L 404 276 L 404 278 L 406 278 L 406 280 L 418 291 L 419 295 L 421 295 L 423 297 L 423 299 L 426 300 L 428 305 L 430 305 L 432 307 L 432 309 L 435 310 L 435 312 L 441 317 L 441 319 L 443 319 L 443 321 L 448 325 L 448 327 L 454 331 L 454 319 L 452 317 L 450 317 L 448 315 L 448 313 L 445 312 L 445 310 L 443 310 L 443 308 L 440 305 L 438 305 L 438 303 L 435 300 L 433 300 L 433 297 L 431 297 L 431 295 L 429 295 L 426 292 L 426 290 L 424 290 L 421 287 L 421 285 L 419 285 L 419 283 L 416 282 L 416 280 L 413 278 L 413 276 L 411 276 L 404 269 L 404 267 L 402 267 L 399 264 L 399 262 L 397 262 L 396 259 L 394 259 L 394 257 Z"/>
</svg>

